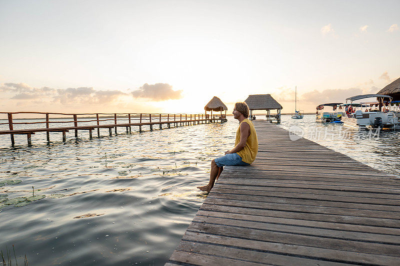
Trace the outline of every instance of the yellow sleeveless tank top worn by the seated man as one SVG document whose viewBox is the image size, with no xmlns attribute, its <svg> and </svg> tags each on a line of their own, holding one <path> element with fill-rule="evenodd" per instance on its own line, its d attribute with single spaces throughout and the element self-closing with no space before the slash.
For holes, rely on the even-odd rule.
<svg viewBox="0 0 400 266">
<path fill-rule="evenodd" d="M 251 164 L 255 160 L 255 156 L 258 151 L 258 140 L 257 133 L 255 133 L 255 128 L 253 123 L 250 120 L 245 118 L 241 123 L 247 123 L 250 126 L 250 136 L 247 137 L 246 146 L 237 152 L 237 154 L 241 157 L 241 160 L 245 163 Z M 241 124 L 240 123 L 240 124 Z M 240 142 L 240 125 L 236 131 L 236 139 L 234 141 L 234 146 L 236 146 Z"/>
</svg>

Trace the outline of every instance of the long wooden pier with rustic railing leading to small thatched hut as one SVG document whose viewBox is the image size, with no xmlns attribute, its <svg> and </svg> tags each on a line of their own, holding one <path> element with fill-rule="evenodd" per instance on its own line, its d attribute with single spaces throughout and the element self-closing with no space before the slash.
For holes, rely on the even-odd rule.
<svg viewBox="0 0 400 266">
<path fill-rule="evenodd" d="M 224 115 L 208 115 L 208 114 L 136 114 L 136 113 L 93 113 L 93 114 L 65 114 L 65 113 L 43 113 L 43 112 L 0 112 L 0 114 L 6 114 L 8 122 L 0 123 L 0 125 L 8 125 L 9 130 L 0 130 L 0 135 L 9 135 L 11 140 L 11 146 L 14 147 L 15 140 L 14 135 L 26 135 L 28 146 L 32 145 L 31 135 L 37 132 L 46 132 L 46 140 L 50 141 L 50 132 L 61 132 L 62 141 L 65 142 L 66 134 L 69 130 L 75 131 L 75 138 L 78 137 L 78 130 L 88 131 L 89 138 L 92 138 L 92 130 L 97 129 L 97 136 L 100 137 L 100 128 L 108 129 L 109 135 L 112 135 L 112 128 L 114 128 L 115 134 L 117 134 L 117 127 L 125 127 L 126 134 L 131 133 L 131 127 L 138 127 L 138 131 L 142 131 L 142 126 L 149 126 L 150 130 L 153 130 L 153 125 L 158 125 L 159 129 L 162 129 L 163 125 L 167 128 L 196 125 L 203 123 L 216 123 L 226 122 L 226 116 Z M 39 122 L 15 122 L 13 115 L 43 115 L 43 121 Z M 50 115 L 52 116 L 50 118 Z M 82 117 L 78 116 L 95 116 Z M 54 117 L 56 116 L 56 117 Z M 73 120 L 63 121 L 60 120 L 64 116 L 71 117 Z M 20 118 L 21 119 L 21 118 Z M 39 118 L 35 119 L 38 120 Z M 65 118 L 64 118 L 65 119 Z M 113 123 L 110 123 L 112 121 Z M 0 121 L 1 122 L 1 121 Z M 50 127 L 50 124 L 69 124 L 62 127 Z M 45 128 L 30 128 L 30 129 L 16 129 L 14 125 L 45 125 Z M 73 124 L 73 126 L 72 126 Z M 84 124 L 84 125 L 82 125 Z"/>
</svg>

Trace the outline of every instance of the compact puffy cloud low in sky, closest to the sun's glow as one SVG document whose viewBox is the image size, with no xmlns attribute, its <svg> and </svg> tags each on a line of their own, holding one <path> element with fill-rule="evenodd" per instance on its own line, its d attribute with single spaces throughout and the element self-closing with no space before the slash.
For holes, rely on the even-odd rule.
<svg viewBox="0 0 400 266">
<path fill-rule="evenodd" d="M 172 90 L 172 86 L 167 83 L 152 85 L 145 83 L 131 93 L 134 98 L 147 98 L 153 101 L 177 100 L 182 98 L 182 90 Z"/>
</svg>

